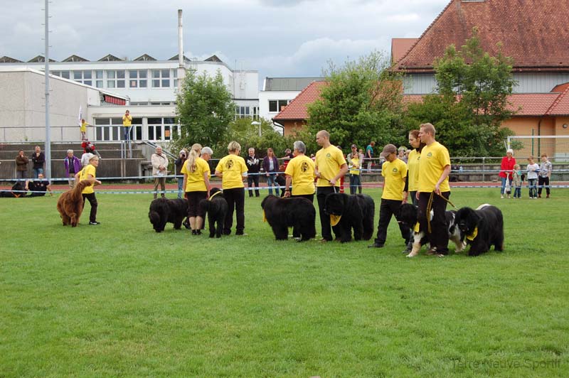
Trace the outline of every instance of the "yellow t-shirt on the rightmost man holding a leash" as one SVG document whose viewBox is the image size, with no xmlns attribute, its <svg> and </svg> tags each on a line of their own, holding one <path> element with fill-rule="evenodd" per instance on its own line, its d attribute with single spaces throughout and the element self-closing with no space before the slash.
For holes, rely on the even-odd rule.
<svg viewBox="0 0 569 378">
<path fill-rule="evenodd" d="M 423 147 L 419 160 L 419 191 L 430 193 L 435 190 L 445 166 L 450 166 L 449 151 L 445 146 L 435 141 Z M 440 191 L 450 192 L 448 177 L 440 184 Z"/>
</svg>

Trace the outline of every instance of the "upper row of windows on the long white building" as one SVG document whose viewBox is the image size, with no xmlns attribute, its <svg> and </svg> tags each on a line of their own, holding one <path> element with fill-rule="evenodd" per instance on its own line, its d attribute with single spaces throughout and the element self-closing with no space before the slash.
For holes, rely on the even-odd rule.
<svg viewBox="0 0 569 378">
<path fill-rule="evenodd" d="M 149 75 L 150 71 L 150 75 Z M 95 75 L 93 77 L 93 72 Z M 50 73 L 97 88 L 169 88 L 178 87 L 178 70 L 74 70 Z M 95 79 L 95 80 L 93 80 Z M 106 82 L 106 85 L 104 85 Z"/>
</svg>

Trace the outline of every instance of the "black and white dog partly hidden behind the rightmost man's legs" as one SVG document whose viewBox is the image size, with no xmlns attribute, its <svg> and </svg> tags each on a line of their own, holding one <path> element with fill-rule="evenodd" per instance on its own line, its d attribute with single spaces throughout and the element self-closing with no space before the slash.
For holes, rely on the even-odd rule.
<svg viewBox="0 0 569 378">
<path fill-rule="evenodd" d="M 427 243 L 427 237 L 424 231 L 415 232 L 415 225 L 418 222 L 419 209 L 417 206 L 410 203 L 404 203 L 399 210 L 399 222 L 413 230 L 413 239 L 407 245 L 403 253 L 408 254 L 407 257 L 415 257 L 419 254 L 422 244 Z M 430 217 L 432 219 L 432 210 Z M 447 232 L 449 239 L 456 244 L 454 252 L 462 252 L 466 244 L 464 243 L 464 235 L 460 229 L 454 225 L 454 217 L 456 212 L 454 210 L 447 210 L 445 212 L 445 221 L 447 223 Z"/>
</svg>

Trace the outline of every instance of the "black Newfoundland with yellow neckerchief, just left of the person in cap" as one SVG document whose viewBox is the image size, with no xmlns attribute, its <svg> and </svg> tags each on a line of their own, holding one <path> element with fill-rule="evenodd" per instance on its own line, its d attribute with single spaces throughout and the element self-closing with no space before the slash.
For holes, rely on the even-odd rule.
<svg viewBox="0 0 569 378">
<path fill-rule="evenodd" d="M 369 240 L 373 235 L 373 217 L 376 212 L 376 204 L 373 199 L 366 194 L 330 193 L 326 195 L 324 202 L 324 212 L 330 215 L 330 224 L 336 232 L 336 239 L 339 237 L 342 243 L 351 240 L 351 229 L 353 228 L 353 239 Z"/>
</svg>

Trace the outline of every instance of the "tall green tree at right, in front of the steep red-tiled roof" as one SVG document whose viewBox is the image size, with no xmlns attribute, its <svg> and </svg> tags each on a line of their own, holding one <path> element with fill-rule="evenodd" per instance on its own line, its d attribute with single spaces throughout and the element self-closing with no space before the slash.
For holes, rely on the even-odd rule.
<svg viewBox="0 0 569 378">
<path fill-rule="evenodd" d="M 500 50 L 495 57 L 482 50 L 474 28 L 460 50 L 450 45 L 435 60 L 438 93 L 410 104 L 405 124 L 435 124 L 437 139 L 454 156 L 501 156 L 502 141 L 512 134 L 500 128 L 512 114 L 507 100 L 515 84 L 511 68 L 511 58 Z"/>
</svg>

